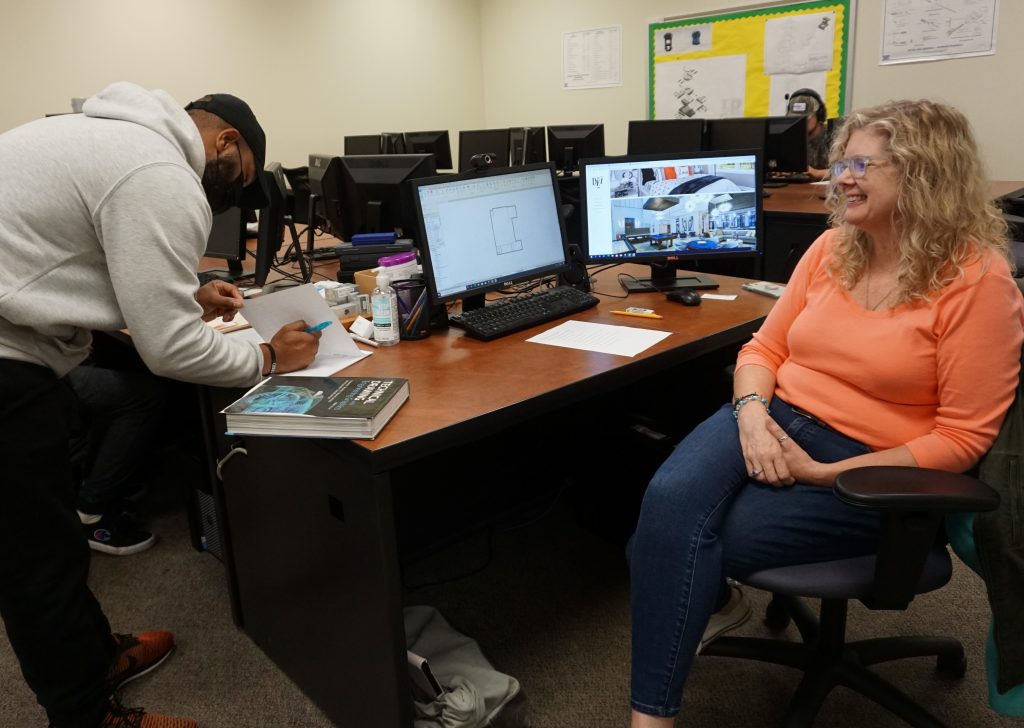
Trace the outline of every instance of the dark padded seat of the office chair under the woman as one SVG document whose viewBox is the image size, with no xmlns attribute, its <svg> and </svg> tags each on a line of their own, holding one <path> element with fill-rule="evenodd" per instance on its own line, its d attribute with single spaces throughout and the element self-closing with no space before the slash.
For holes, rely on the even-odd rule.
<svg viewBox="0 0 1024 728">
<path fill-rule="evenodd" d="M 815 599 L 864 599 L 874 586 L 876 557 L 857 556 L 813 564 L 777 566 L 737 576 L 739 582 L 766 592 Z M 936 547 L 928 555 L 916 594 L 939 589 L 949 582 L 952 562 L 945 547 Z"/>
</svg>

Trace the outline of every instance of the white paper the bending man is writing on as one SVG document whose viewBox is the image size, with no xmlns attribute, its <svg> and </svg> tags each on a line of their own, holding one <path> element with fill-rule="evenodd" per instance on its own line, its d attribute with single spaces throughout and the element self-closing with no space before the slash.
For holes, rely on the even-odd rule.
<svg viewBox="0 0 1024 728">
<path fill-rule="evenodd" d="M 286 324 L 304 320 L 309 326 L 322 322 L 331 322 L 321 336 L 319 350 L 313 362 L 298 372 L 289 372 L 286 376 L 319 377 L 332 375 L 335 372 L 353 365 L 369 356 L 372 351 L 364 351 L 355 345 L 348 336 L 345 327 L 335 316 L 334 312 L 312 285 L 285 289 L 269 296 L 260 296 L 246 301 L 246 318 L 253 329 L 263 337 L 270 338 Z"/>
</svg>

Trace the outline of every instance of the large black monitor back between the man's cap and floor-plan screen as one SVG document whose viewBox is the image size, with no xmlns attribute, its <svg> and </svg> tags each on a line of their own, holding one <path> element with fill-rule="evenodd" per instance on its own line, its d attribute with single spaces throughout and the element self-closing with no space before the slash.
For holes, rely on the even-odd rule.
<svg viewBox="0 0 1024 728">
<path fill-rule="evenodd" d="M 309 188 L 324 204 L 331 234 L 410 235 L 415 216 L 408 182 L 437 173 L 433 155 L 309 156 Z"/>
</svg>

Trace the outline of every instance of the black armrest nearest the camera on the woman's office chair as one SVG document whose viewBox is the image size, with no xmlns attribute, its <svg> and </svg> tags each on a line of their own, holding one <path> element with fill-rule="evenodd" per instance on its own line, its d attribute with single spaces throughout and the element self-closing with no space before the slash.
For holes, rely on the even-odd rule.
<svg viewBox="0 0 1024 728">
<path fill-rule="evenodd" d="M 836 495 L 857 508 L 991 511 L 999 495 L 969 475 L 895 465 L 852 468 L 836 478 Z"/>
</svg>

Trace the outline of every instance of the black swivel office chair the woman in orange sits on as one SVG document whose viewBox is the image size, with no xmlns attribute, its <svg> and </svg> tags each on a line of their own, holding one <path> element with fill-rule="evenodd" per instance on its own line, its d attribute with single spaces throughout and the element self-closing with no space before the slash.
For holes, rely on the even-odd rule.
<svg viewBox="0 0 1024 728">
<path fill-rule="evenodd" d="M 804 678 L 781 725 L 810 726 L 828 692 L 842 685 L 871 698 L 908 724 L 943 724 L 868 668 L 903 657 L 935 656 L 940 675 L 963 677 L 964 647 L 945 637 L 888 637 L 846 641 L 847 607 L 903 610 L 918 594 L 944 586 L 952 573 L 943 519 L 955 511 L 989 511 L 999 496 L 967 475 L 909 467 L 854 468 L 836 479 L 836 496 L 856 508 L 878 510 L 882 538 L 876 555 L 764 569 L 737 581 L 773 593 L 765 624 L 781 631 L 796 623 L 803 642 L 720 637 L 702 655 L 742 657 L 796 668 Z M 821 600 L 816 619 L 801 598 Z"/>
</svg>

